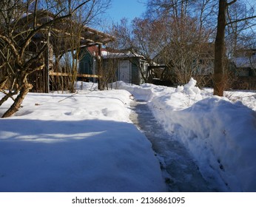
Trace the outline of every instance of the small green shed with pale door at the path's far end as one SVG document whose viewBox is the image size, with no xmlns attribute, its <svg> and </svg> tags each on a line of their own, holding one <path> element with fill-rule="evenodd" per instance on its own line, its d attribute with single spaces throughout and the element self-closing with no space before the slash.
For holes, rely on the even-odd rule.
<svg viewBox="0 0 256 207">
<path fill-rule="evenodd" d="M 95 46 L 84 47 L 81 50 L 78 72 L 81 74 L 98 74 L 98 58 L 102 60 L 104 78 L 108 81 L 124 81 L 129 84 L 144 83 L 143 75 L 146 75 L 148 64 L 144 56 L 129 50 L 110 50 L 101 48 L 99 54 Z M 95 78 L 87 78 L 84 81 L 96 81 Z"/>
</svg>

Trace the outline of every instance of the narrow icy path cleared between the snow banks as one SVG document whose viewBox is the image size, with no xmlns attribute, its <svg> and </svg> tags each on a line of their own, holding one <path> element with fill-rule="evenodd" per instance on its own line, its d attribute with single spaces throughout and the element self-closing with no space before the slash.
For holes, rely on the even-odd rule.
<svg viewBox="0 0 256 207">
<path fill-rule="evenodd" d="M 151 141 L 169 191 L 218 191 L 207 183 L 186 149 L 164 131 L 143 101 L 131 103 L 130 119 Z M 212 187 L 211 187 L 212 186 Z"/>
</svg>

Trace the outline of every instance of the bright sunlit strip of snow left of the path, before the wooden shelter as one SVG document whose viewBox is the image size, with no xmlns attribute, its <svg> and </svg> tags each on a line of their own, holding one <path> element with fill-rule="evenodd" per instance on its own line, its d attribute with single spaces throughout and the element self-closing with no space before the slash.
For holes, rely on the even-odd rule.
<svg viewBox="0 0 256 207">
<path fill-rule="evenodd" d="M 84 83 L 85 88 L 91 84 Z M 88 91 L 70 94 L 30 93 L 24 107 L 16 113 L 16 118 L 39 118 L 41 120 L 84 120 L 100 119 L 130 122 L 127 108 L 131 99 L 125 90 Z M 1 111 L 0 111 L 1 113 Z"/>
</svg>

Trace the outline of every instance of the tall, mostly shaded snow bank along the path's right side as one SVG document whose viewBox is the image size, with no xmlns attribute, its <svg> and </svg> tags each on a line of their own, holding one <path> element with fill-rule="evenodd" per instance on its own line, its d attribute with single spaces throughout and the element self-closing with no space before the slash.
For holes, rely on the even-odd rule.
<svg viewBox="0 0 256 207">
<path fill-rule="evenodd" d="M 200 101 L 200 93 L 191 80 L 173 93 L 156 95 L 155 117 L 189 149 L 206 179 L 223 180 L 227 191 L 256 191 L 256 112 L 226 98 Z M 191 95 L 195 104 L 189 106 Z"/>
</svg>

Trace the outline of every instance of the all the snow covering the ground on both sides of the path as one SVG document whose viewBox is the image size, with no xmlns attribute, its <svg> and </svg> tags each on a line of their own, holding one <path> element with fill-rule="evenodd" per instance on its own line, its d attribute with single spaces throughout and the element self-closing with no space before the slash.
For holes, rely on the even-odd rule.
<svg viewBox="0 0 256 207">
<path fill-rule="evenodd" d="M 256 191 L 256 95 L 118 81 L 107 91 L 29 93 L 0 120 L 0 191 L 166 191 L 152 144 L 130 121 L 134 97 L 183 143 L 206 180 Z M 0 108 L 0 115 L 11 101 Z"/>
</svg>

